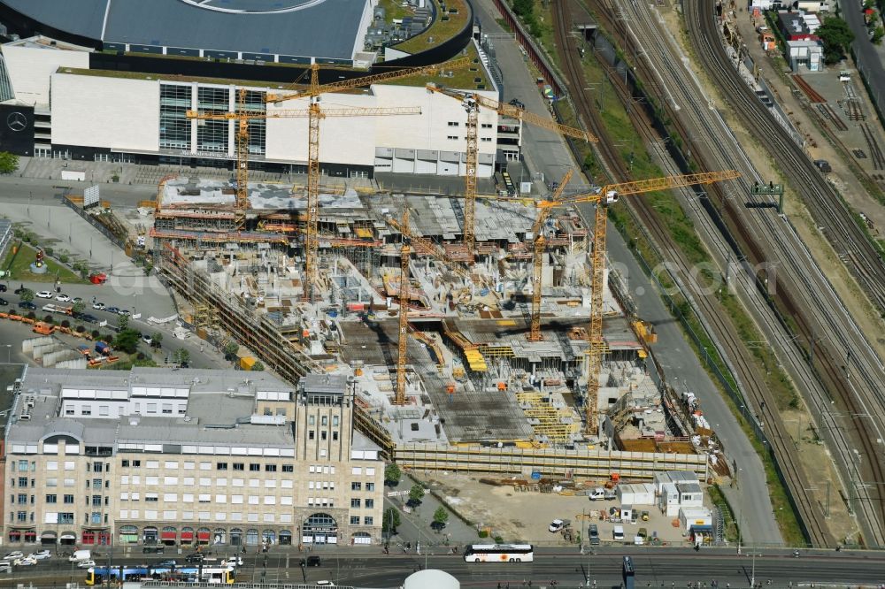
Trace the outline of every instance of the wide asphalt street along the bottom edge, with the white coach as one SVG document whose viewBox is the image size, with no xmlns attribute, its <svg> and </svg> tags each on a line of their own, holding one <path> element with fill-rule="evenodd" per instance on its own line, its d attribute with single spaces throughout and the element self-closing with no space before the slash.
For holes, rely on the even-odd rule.
<svg viewBox="0 0 885 589">
<path fill-rule="evenodd" d="M 364 549 L 319 549 L 319 567 L 302 569 L 304 554 L 295 550 L 273 551 L 267 555 L 245 555 L 244 565 L 238 571 L 240 582 L 315 583 L 333 580 L 337 585 L 360 587 L 401 586 L 412 572 L 428 568 L 449 572 L 462 585 L 476 587 L 549 586 L 575 587 L 581 584 L 615 587 L 621 583 L 624 555 L 630 555 L 635 566 L 637 587 L 682 587 L 687 583 L 711 586 L 715 580 L 726 589 L 750 586 L 750 579 L 772 587 L 805 585 L 879 585 L 885 578 L 885 555 L 877 553 L 803 553 L 794 558 L 789 552 L 744 553 L 704 548 L 700 553 L 683 549 L 611 549 L 603 548 L 595 555 L 580 555 L 556 550 L 539 550 L 535 562 L 482 564 L 466 563 L 460 555 L 393 554 L 381 555 L 378 547 Z M 219 552 L 219 555 L 223 553 Z M 755 555 L 755 556 L 754 556 Z M 163 555 L 116 558 L 116 564 L 160 562 L 166 558 L 181 560 L 181 556 Z M 99 564 L 104 564 L 99 559 Z M 263 573 L 263 574 L 262 574 Z M 34 567 L 18 567 L 9 576 L 0 578 L 0 585 L 32 581 L 35 585 L 51 586 L 82 580 L 85 572 L 62 559 L 42 561 Z M 791 585 L 790 585 L 791 584 Z M 768 586 L 768 585 L 766 585 Z"/>
</svg>

